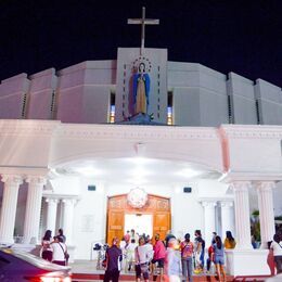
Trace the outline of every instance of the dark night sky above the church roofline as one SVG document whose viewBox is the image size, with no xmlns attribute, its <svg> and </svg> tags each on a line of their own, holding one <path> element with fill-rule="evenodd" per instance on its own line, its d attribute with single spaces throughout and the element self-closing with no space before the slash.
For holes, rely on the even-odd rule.
<svg viewBox="0 0 282 282">
<path fill-rule="evenodd" d="M 139 47 L 128 17 L 159 18 L 145 46 L 167 48 L 169 61 L 195 62 L 221 73 L 282 87 L 282 1 L 0 0 L 0 79 L 56 69 L 86 60 L 116 59 Z"/>
</svg>

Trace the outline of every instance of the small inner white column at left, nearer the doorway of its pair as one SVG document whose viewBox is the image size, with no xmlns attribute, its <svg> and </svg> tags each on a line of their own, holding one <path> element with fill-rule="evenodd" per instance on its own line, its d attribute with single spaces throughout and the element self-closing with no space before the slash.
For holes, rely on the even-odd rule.
<svg viewBox="0 0 282 282">
<path fill-rule="evenodd" d="M 66 236 L 67 245 L 73 245 L 73 227 L 74 227 L 74 209 L 75 198 L 64 198 L 63 201 L 63 231 Z"/>
</svg>

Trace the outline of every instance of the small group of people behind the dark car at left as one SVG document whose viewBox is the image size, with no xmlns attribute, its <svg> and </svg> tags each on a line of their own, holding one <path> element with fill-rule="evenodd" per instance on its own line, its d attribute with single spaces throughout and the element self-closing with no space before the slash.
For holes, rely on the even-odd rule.
<svg viewBox="0 0 282 282">
<path fill-rule="evenodd" d="M 47 230 L 41 242 L 40 256 L 53 264 L 66 266 L 68 253 L 65 244 L 66 236 L 63 229 L 59 229 L 57 234 L 52 236 L 52 231 Z"/>
</svg>

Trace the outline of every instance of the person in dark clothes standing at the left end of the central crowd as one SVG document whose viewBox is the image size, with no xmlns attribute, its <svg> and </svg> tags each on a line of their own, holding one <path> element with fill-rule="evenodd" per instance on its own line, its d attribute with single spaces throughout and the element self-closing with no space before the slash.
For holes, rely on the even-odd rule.
<svg viewBox="0 0 282 282">
<path fill-rule="evenodd" d="M 120 272 L 120 264 L 123 260 L 123 252 L 118 247 L 118 239 L 114 238 L 112 241 L 112 246 L 106 249 L 105 261 L 106 270 L 104 274 L 104 282 L 112 280 L 117 282 Z"/>
</svg>

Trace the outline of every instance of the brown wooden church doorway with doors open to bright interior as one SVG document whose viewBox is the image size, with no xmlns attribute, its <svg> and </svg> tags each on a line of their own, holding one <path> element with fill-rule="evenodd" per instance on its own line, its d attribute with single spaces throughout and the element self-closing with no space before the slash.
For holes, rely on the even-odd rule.
<svg viewBox="0 0 282 282">
<path fill-rule="evenodd" d="M 150 235 L 154 236 L 155 233 L 159 233 L 161 239 L 164 240 L 167 231 L 171 229 L 170 213 L 168 197 L 149 194 L 146 204 L 142 208 L 134 208 L 129 205 L 127 194 L 110 196 L 107 198 L 106 241 L 110 244 L 114 236 L 121 239 L 126 229 L 130 229 L 129 222 L 132 219 L 134 220 L 132 228 L 140 222 L 143 227 L 141 232 L 145 232 L 150 230 L 148 225 L 152 225 Z"/>
</svg>

